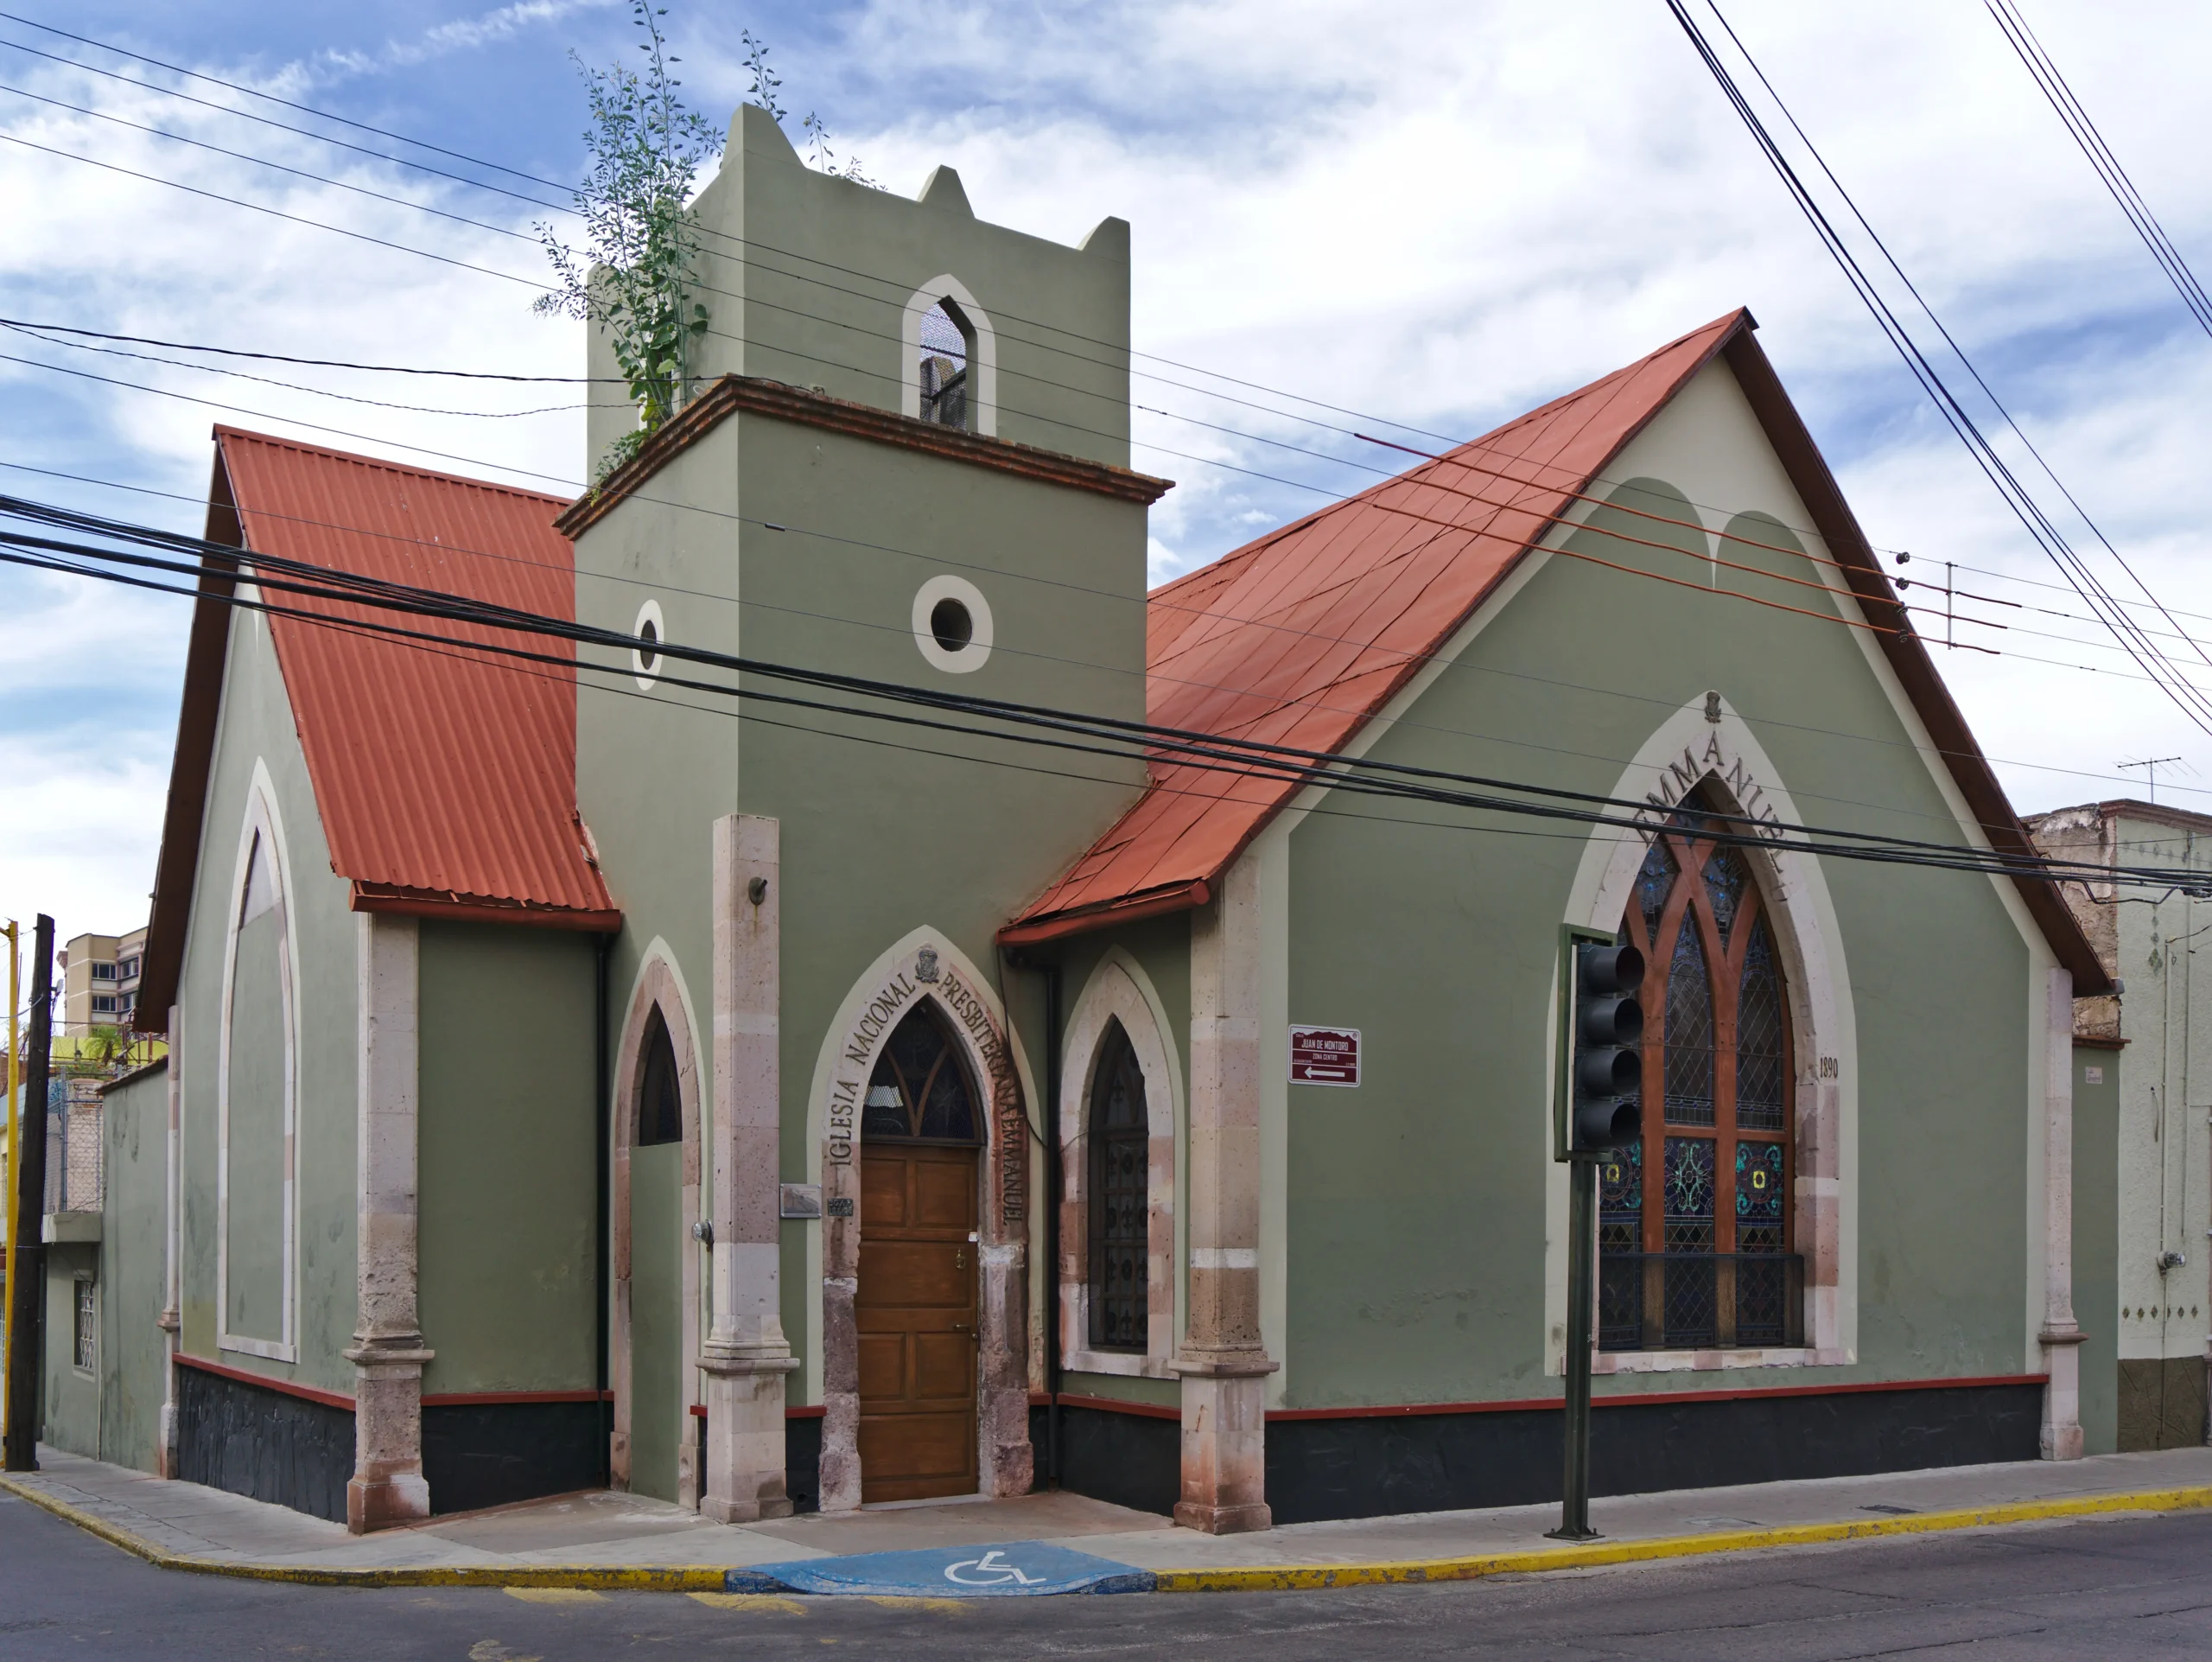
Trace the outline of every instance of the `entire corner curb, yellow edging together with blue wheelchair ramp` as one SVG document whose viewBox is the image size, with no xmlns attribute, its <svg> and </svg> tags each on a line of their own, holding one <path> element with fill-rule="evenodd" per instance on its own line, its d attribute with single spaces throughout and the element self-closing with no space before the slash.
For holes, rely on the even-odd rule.
<svg viewBox="0 0 2212 1662">
<path fill-rule="evenodd" d="M 157 1569 L 184 1569 L 201 1576 L 237 1576 L 243 1580 L 294 1582 L 301 1587 L 573 1587 L 584 1591 L 644 1593 L 914 1593 L 922 1585 L 936 1598 L 1009 1598 L 1060 1593 L 1281 1593 L 1323 1587 L 1391 1587 L 1409 1582 L 1480 1580 L 1484 1576 L 1533 1576 L 1548 1569 L 1595 1569 L 1601 1565 L 1641 1565 L 1663 1558 L 1703 1558 L 1710 1554 L 1759 1551 L 1765 1547 L 1818 1547 L 1840 1540 L 1878 1540 L 1882 1536 L 1924 1536 L 1944 1529 L 1991 1529 L 2011 1523 L 2046 1523 L 2053 1518 L 2097 1518 L 2143 1512 L 2199 1512 L 2212 1507 L 2212 1485 L 2181 1489 L 2135 1489 L 2128 1494 L 2088 1494 L 2059 1500 L 2008 1500 L 1989 1507 L 1953 1512 L 1916 1512 L 1896 1518 L 1851 1518 L 1843 1523 L 1798 1523 L 1774 1529 L 1712 1529 L 1694 1536 L 1652 1536 L 1648 1540 L 1597 1540 L 1586 1547 L 1542 1547 L 1531 1551 L 1480 1554 L 1469 1558 L 1376 1560 L 1365 1565 L 1225 1565 L 1217 1569 L 1137 1569 L 1088 1554 L 1048 1547 L 1044 1542 L 1002 1542 L 1000 1547 L 960 1547 L 916 1554 L 865 1554 L 854 1558 L 812 1558 L 799 1565 L 759 1565 L 723 1569 L 719 1565 L 411 1565 L 411 1567 L 312 1567 L 252 1565 L 226 1558 L 195 1558 L 161 1551 L 93 1512 L 58 1500 L 38 1485 L 0 1476 L 0 1489 L 29 1500 L 113 1547 L 144 1558 Z M 1000 1578 L 1000 1565 L 984 1565 L 987 1554 L 1015 1547 L 1024 1554 L 1055 1554 L 1048 1571 L 1031 1582 L 1020 1576 Z M 931 1571 L 927 1580 L 914 1569 Z M 925 1562 L 927 1560 L 927 1562 Z M 958 1560 L 951 1565 L 949 1560 Z M 1060 1562 L 1068 1560 L 1068 1562 Z M 1082 1562 L 1075 1562 L 1082 1560 Z M 1024 1558 L 1026 1562 L 1026 1558 Z M 984 1585 L 975 1585 L 982 1565 Z M 889 1567 L 894 1573 L 885 1573 Z M 967 1576 L 942 1578 L 945 1567 L 967 1567 Z M 856 1573 L 858 1571 L 858 1573 Z"/>
</svg>

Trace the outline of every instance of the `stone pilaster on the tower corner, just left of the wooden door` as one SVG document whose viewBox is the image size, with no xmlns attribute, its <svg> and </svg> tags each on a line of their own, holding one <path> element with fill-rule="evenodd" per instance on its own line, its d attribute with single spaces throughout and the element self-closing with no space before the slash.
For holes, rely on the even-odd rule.
<svg viewBox="0 0 2212 1662">
<path fill-rule="evenodd" d="M 712 1323 L 706 1372 L 706 1494 L 717 1523 L 792 1512 L 783 1487 L 779 1160 L 783 1126 L 779 823 L 714 821 Z"/>
</svg>

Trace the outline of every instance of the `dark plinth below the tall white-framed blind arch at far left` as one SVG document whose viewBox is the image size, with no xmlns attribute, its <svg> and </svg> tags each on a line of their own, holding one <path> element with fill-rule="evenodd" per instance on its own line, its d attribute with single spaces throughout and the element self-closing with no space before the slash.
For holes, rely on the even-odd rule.
<svg viewBox="0 0 2212 1662">
<path fill-rule="evenodd" d="M 343 1407 L 179 1368 L 177 1476 L 345 1523 L 354 1416 Z"/>
</svg>

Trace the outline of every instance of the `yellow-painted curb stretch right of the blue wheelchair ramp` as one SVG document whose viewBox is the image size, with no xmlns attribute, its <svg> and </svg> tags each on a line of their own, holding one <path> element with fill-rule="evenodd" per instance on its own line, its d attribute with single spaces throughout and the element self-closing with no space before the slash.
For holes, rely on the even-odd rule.
<svg viewBox="0 0 2212 1662">
<path fill-rule="evenodd" d="M 2066 1500 L 2006 1500 L 1993 1507 L 1955 1512 L 1913 1512 L 1898 1518 L 1863 1518 L 1849 1523 L 1794 1523 L 1774 1529 L 1714 1529 L 1697 1536 L 1657 1536 L 1652 1540 L 1606 1540 L 1590 1547 L 1544 1547 L 1535 1551 L 1500 1551 L 1478 1558 L 1413 1558 L 1371 1565 L 1283 1565 L 1241 1569 L 1161 1569 L 1155 1589 L 1161 1593 L 1259 1593 L 1318 1587 L 1389 1587 L 1405 1582 L 1480 1580 L 1482 1576 L 1531 1576 L 1546 1569 L 1593 1569 L 1599 1565 L 1637 1565 L 1655 1558 L 1699 1558 L 1719 1551 L 1756 1551 L 1759 1547 L 1814 1547 L 1829 1540 L 1871 1540 L 1878 1536 L 1922 1536 L 1938 1529 L 1984 1529 L 2004 1523 L 2042 1518 L 2090 1518 L 2112 1512 L 2188 1512 L 2212 1507 L 2212 1487 L 2137 1489 L 2132 1494 L 2073 1496 Z"/>
</svg>

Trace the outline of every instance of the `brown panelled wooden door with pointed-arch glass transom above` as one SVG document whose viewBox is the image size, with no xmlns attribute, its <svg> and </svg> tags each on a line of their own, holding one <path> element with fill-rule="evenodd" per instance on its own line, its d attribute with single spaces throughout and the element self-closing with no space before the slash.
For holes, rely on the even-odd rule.
<svg viewBox="0 0 2212 1662">
<path fill-rule="evenodd" d="M 936 1000 L 876 1058 L 860 1142 L 860 1498 L 975 1494 L 984 1111 Z"/>
</svg>

